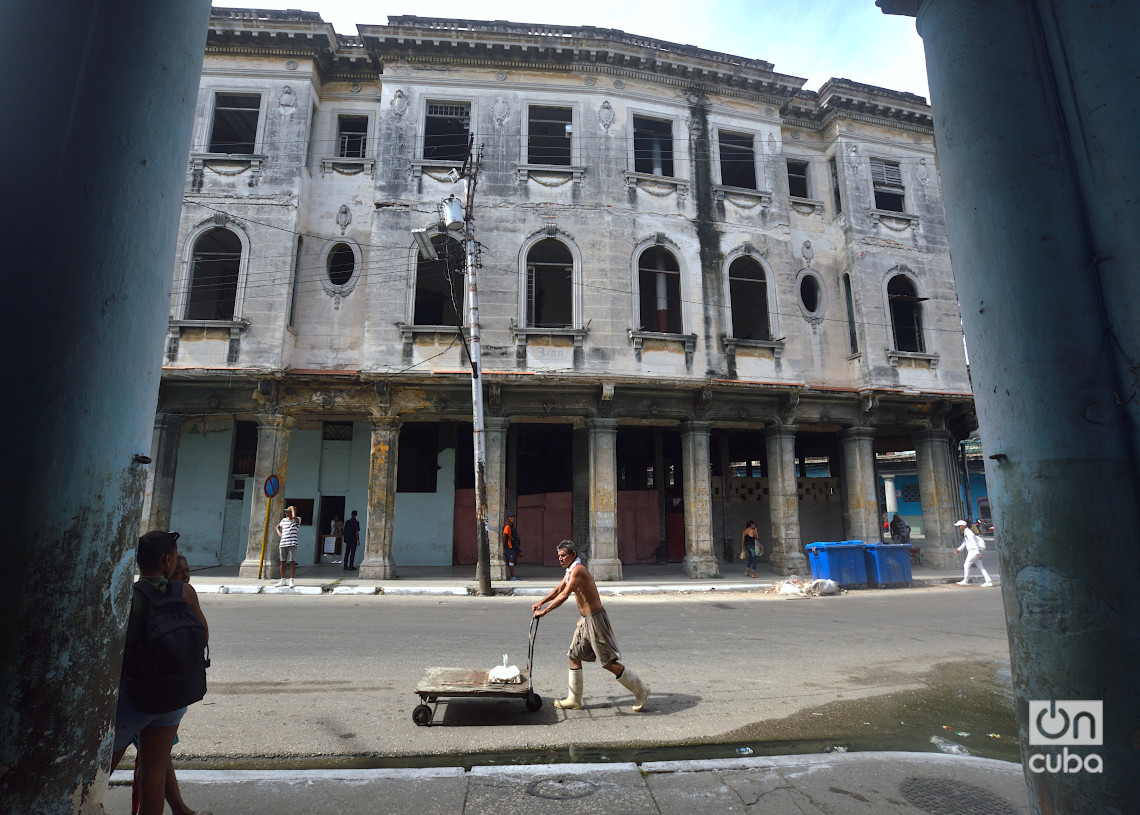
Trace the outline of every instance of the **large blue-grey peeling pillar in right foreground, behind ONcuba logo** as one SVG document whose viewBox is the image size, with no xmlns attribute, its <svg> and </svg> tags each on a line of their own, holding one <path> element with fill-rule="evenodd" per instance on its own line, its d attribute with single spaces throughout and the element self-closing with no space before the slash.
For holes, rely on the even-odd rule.
<svg viewBox="0 0 1140 815">
<path fill-rule="evenodd" d="M 1140 111 L 1121 100 L 1140 96 L 1140 7 L 880 5 L 917 10 L 926 47 L 970 375 L 993 461 L 986 479 L 1025 759 L 1059 752 L 1029 745 L 1031 701 L 1104 702 L 1104 744 L 1068 748 L 1096 752 L 1104 772 L 1026 772 L 1031 804 L 1035 813 L 1131 812 L 1140 800 Z"/>
</svg>

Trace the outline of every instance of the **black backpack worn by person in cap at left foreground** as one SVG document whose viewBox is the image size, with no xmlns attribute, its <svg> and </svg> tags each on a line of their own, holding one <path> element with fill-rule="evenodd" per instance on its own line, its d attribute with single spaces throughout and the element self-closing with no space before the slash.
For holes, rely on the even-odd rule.
<svg viewBox="0 0 1140 815">
<path fill-rule="evenodd" d="M 170 712 L 206 694 L 206 627 L 186 602 L 182 588 L 181 580 L 168 582 L 166 594 L 146 580 L 135 584 L 147 612 L 138 642 L 123 654 L 123 690 L 144 714 Z"/>
</svg>

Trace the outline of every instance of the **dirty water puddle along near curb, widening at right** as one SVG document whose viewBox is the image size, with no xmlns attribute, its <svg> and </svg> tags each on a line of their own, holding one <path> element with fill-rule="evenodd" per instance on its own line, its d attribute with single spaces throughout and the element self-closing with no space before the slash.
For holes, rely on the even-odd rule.
<svg viewBox="0 0 1140 815">
<path fill-rule="evenodd" d="M 937 666 L 923 686 L 838 700 L 757 722 L 716 743 L 472 752 L 451 756 L 317 756 L 179 761 L 187 769 L 394 769 L 407 767 L 601 764 L 792 756 L 812 752 L 954 752 L 1020 761 L 1009 662 Z"/>
</svg>

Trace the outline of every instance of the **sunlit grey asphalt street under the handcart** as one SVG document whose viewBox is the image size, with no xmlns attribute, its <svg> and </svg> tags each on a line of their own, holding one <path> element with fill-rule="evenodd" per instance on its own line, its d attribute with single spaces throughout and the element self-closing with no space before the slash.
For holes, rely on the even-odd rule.
<svg viewBox="0 0 1140 815">
<path fill-rule="evenodd" d="M 210 693 L 187 715 L 176 758 L 203 766 L 570 745 L 603 748 L 601 755 L 605 747 L 722 739 L 878 733 L 888 740 L 880 719 L 918 716 L 923 707 L 943 718 L 1003 715 L 993 678 L 1008 660 L 999 589 L 609 597 L 625 660 L 653 685 L 641 715 L 629 712 L 620 685 L 588 665 L 587 709 L 553 707 L 564 694 L 577 616 L 563 608 L 538 629 L 542 710 L 528 712 L 515 700 L 443 700 L 431 727 L 412 722 L 418 702 L 412 688 L 423 668 L 490 668 L 504 653 L 523 665 L 531 598 L 204 594 L 202 601 L 211 628 Z"/>
</svg>

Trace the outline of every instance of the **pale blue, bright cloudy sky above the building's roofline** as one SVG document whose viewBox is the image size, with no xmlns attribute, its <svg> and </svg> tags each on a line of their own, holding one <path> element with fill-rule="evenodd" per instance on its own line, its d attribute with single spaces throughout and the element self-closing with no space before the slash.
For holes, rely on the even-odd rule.
<svg viewBox="0 0 1140 815">
<path fill-rule="evenodd" d="M 355 34 L 357 24 L 383 25 L 389 15 L 400 14 L 620 28 L 766 59 L 780 73 L 807 79 L 807 90 L 817 90 L 831 76 L 842 76 L 928 96 L 922 40 L 914 31 L 914 19 L 885 15 L 874 0 L 573 0 L 546 6 L 534 0 L 475 0 L 462 5 L 423 0 L 253 0 L 249 6 L 319 11 L 342 34 Z"/>
</svg>

